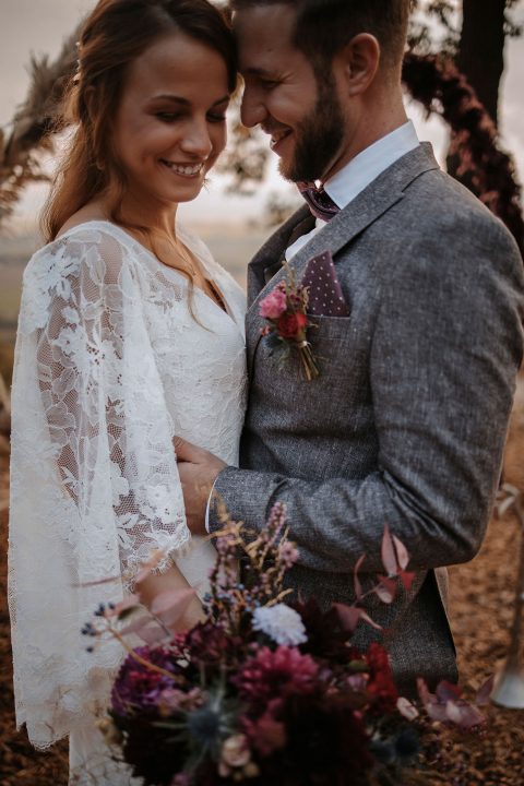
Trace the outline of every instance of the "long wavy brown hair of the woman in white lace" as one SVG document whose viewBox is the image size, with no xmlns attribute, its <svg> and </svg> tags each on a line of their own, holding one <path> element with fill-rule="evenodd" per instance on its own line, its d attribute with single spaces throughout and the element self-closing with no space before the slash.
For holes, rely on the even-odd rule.
<svg viewBox="0 0 524 786">
<path fill-rule="evenodd" d="M 120 210 L 127 178 L 112 150 L 111 124 L 130 63 L 155 40 L 176 31 L 224 58 L 233 93 L 237 69 L 231 32 L 224 14 L 207 0 L 100 0 L 87 17 L 78 45 L 78 73 L 63 110 L 66 122 L 74 123 L 75 131 L 41 216 L 46 242 L 103 192 L 110 218 L 126 224 Z"/>
</svg>

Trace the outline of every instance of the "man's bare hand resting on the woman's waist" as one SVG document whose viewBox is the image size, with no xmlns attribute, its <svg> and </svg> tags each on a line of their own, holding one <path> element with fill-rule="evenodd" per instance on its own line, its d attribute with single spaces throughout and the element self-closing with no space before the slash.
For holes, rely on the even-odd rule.
<svg viewBox="0 0 524 786">
<path fill-rule="evenodd" d="M 210 451 L 198 448 L 181 437 L 175 437 L 172 444 L 177 454 L 188 526 L 193 535 L 205 535 L 207 500 L 216 476 L 227 464 Z"/>
</svg>

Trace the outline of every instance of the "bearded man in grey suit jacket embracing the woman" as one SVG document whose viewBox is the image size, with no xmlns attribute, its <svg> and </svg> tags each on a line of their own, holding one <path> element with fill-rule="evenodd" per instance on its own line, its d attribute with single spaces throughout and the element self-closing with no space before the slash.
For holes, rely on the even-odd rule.
<svg viewBox="0 0 524 786">
<path fill-rule="evenodd" d="M 295 182 L 319 180 L 249 265 L 249 407 L 240 468 L 178 441 L 188 520 L 207 491 L 264 526 L 285 502 L 299 562 L 289 585 L 322 605 L 354 599 L 366 553 L 383 572 L 388 524 L 416 579 L 367 605 L 355 643 L 383 636 L 401 687 L 456 679 L 443 565 L 471 560 L 500 475 L 522 359 L 522 260 L 504 229 L 443 174 L 407 122 L 401 88 L 409 0 L 235 0 L 242 120 L 261 126 Z M 320 200 L 320 204 L 319 204 Z M 260 301 L 330 252 L 345 315 L 314 317 L 321 376 L 261 341 Z M 325 254 L 323 257 L 325 259 Z M 209 527 L 219 527 L 213 507 Z"/>
</svg>

